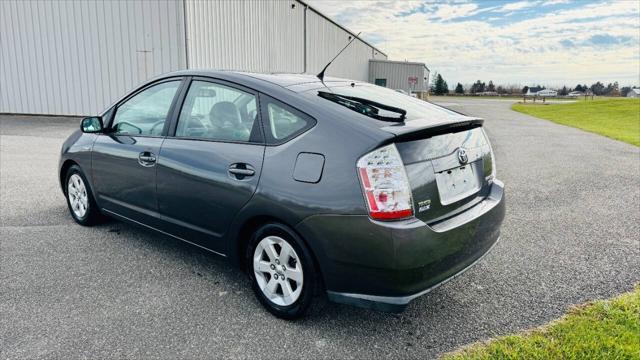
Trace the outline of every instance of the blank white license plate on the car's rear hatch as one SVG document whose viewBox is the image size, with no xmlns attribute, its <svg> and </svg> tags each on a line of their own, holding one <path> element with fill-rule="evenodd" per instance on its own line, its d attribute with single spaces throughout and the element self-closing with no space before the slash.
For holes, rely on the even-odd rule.
<svg viewBox="0 0 640 360">
<path fill-rule="evenodd" d="M 436 173 L 436 184 L 442 205 L 448 205 L 480 190 L 478 179 L 470 165 Z"/>
</svg>

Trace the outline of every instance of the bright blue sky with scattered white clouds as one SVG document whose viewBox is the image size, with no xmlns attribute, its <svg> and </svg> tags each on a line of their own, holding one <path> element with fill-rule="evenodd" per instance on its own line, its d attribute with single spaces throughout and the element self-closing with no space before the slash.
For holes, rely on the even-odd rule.
<svg viewBox="0 0 640 360">
<path fill-rule="evenodd" d="M 390 60 L 476 80 L 640 85 L 640 0 L 309 0 Z"/>
</svg>

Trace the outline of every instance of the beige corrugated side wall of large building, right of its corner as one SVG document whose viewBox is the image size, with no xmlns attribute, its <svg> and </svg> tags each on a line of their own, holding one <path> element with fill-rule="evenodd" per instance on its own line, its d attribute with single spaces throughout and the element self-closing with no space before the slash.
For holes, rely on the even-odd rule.
<svg viewBox="0 0 640 360">
<path fill-rule="evenodd" d="M 305 5 L 297 1 L 186 0 L 186 11 L 190 68 L 317 74 L 352 36 L 308 9 L 305 42 Z M 356 40 L 327 75 L 366 81 L 372 58 L 386 55 Z"/>
</svg>

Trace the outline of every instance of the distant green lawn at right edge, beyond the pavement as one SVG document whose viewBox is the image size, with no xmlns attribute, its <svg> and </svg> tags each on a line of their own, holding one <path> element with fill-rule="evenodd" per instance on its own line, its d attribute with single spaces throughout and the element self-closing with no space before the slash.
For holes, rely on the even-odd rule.
<svg viewBox="0 0 640 360">
<path fill-rule="evenodd" d="M 579 99 L 570 104 L 517 103 L 515 111 L 640 146 L 640 99 Z"/>
</svg>

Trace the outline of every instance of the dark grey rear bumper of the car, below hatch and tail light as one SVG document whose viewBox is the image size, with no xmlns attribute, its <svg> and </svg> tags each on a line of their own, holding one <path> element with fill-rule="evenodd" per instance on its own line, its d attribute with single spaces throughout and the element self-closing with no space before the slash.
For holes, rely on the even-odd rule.
<svg viewBox="0 0 640 360">
<path fill-rule="evenodd" d="M 504 215 L 496 180 L 485 200 L 436 224 L 316 215 L 297 229 L 318 258 L 330 300 L 398 312 L 478 262 L 498 241 Z"/>
</svg>

